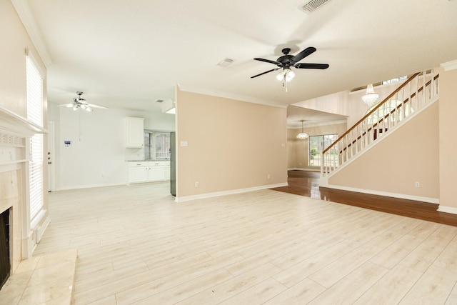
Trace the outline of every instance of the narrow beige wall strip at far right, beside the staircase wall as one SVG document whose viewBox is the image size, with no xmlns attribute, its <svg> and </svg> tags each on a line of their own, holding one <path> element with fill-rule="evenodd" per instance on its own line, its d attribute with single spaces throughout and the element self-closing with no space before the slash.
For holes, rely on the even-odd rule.
<svg viewBox="0 0 457 305">
<path fill-rule="evenodd" d="M 440 206 L 457 209 L 457 69 L 440 71 L 440 111 L 439 111 L 439 181 Z M 454 213 L 456 213 L 454 211 Z"/>
</svg>

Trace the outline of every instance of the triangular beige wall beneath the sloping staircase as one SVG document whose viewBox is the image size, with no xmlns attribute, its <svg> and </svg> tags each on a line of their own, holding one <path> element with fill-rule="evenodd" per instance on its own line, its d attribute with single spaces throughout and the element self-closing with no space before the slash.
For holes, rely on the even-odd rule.
<svg viewBox="0 0 457 305">
<path fill-rule="evenodd" d="M 341 168 L 328 184 L 438 199 L 438 109 L 438 102 L 429 106 Z"/>
</svg>

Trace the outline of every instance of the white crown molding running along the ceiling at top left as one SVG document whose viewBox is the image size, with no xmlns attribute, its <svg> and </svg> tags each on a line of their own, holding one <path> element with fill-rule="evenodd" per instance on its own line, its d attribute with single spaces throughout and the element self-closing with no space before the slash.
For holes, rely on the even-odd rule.
<svg viewBox="0 0 457 305">
<path fill-rule="evenodd" d="M 44 39 L 41 36 L 38 25 L 36 24 L 34 15 L 31 14 L 29 3 L 27 0 L 11 0 L 11 3 L 13 4 L 14 9 L 16 9 L 22 24 L 24 24 L 24 27 L 30 36 L 31 42 L 34 44 L 36 51 L 38 51 L 41 60 L 46 66 L 49 66 L 52 62 L 51 56 L 49 55 Z"/>
</svg>

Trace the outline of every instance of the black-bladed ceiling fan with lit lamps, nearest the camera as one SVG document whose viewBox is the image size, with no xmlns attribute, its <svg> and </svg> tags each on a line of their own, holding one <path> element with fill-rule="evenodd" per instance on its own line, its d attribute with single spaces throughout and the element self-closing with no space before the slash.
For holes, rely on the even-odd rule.
<svg viewBox="0 0 457 305">
<path fill-rule="evenodd" d="M 270 64 L 275 64 L 278 66 L 275 69 L 271 69 L 268 71 L 265 71 L 261 74 L 257 74 L 254 76 L 251 76 L 251 79 L 257 76 L 261 76 L 263 74 L 267 74 L 271 71 L 277 71 L 279 69 L 283 69 L 278 76 L 276 76 L 276 79 L 278 81 L 283 81 L 283 83 L 287 83 L 288 81 L 291 81 L 293 79 L 293 76 L 295 76 L 295 72 L 291 70 L 291 67 L 293 66 L 296 69 L 327 69 L 328 64 L 304 64 L 304 63 L 298 63 L 298 61 L 301 61 L 301 59 L 304 59 L 306 56 L 313 54 L 316 51 L 316 48 L 313 46 L 309 46 L 308 48 L 304 49 L 300 53 L 296 54 L 295 56 L 289 55 L 289 52 L 291 51 L 290 48 L 284 48 L 282 49 L 283 56 L 279 57 L 276 59 L 276 61 L 271 61 L 269 59 L 259 59 L 255 58 L 256 61 L 265 61 Z"/>
</svg>

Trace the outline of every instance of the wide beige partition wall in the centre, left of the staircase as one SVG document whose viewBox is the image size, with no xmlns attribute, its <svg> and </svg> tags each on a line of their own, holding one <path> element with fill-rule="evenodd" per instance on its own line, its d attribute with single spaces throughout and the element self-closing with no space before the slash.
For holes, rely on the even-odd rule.
<svg viewBox="0 0 457 305">
<path fill-rule="evenodd" d="M 286 108 L 179 90 L 176 105 L 178 198 L 287 182 Z"/>
</svg>

